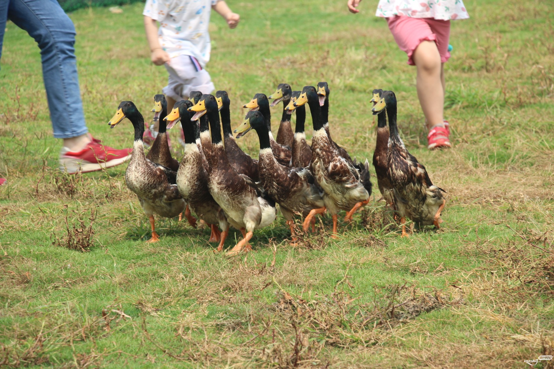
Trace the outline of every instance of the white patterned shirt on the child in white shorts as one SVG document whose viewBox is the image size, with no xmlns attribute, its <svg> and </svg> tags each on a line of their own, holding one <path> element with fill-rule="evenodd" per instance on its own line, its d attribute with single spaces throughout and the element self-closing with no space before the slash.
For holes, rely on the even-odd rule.
<svg viewBox="0 0 554 369">
<path fill-rule="evenodd" d="M 219 0 L 146 0 L 142 15 L 160 22 L 158 38 L 171 58 L 191 55 L 202 67 L 209 61 L 209 16 Z"/>
</svg>

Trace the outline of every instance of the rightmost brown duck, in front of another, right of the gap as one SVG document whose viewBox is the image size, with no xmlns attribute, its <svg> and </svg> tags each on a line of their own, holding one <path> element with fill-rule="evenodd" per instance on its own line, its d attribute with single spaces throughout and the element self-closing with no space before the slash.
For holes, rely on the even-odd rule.
<svg viewBox="0 0 554 369">
<path fill-rule="evenodd" d="M 372 111 L 387 110 L 389 138 L 387 151 L 387 174 L 391 180 L 394 206 L 400 215 L 402 236 L 406 233 L 406 217 L 418 226 L 434 225 L 440 229 L 444 209 L 445 190 L 433 185 L 424 165 L 408 152 L 398 134 L 397 101 L 393 91 L 383 91 Z"/>
</svg>

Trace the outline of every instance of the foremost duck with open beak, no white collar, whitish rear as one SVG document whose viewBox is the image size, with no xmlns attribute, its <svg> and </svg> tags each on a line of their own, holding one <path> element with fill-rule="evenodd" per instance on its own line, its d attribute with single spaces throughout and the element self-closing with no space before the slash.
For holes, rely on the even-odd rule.
<svg viewBox="0 0 554 369">
<path fill-rule="evenodd" d="M 229 224 L 243 234 L 242 240 L 227 254 L 232 256 L 243 250 L 252 250 L 249 241 L 254 230 L 266 227 L 275 220 L 275 201 L 265 196 L 248 176 L 237 173 L 229 163 L 220 131 L 216 97 L 202 95 L 198 103 L 188 110 L 195 112 L 191 119 L 203 115 L 208 117 L 212 132 L 212 153 L 208 160 L 208 190 L 227 215 Z"/>
</svg>

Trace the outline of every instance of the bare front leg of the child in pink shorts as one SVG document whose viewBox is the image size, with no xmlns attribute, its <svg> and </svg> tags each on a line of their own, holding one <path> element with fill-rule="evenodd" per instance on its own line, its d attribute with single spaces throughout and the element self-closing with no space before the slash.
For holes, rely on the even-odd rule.
<svg viewBox="0 0 554 369">
<path fill-rule="evenodd" d="M 434 41 L 422 41 L 413 54 L 417 67 L 417 95 L 427 128 L 443 127 L 444 73 Z"/>
</svg>

